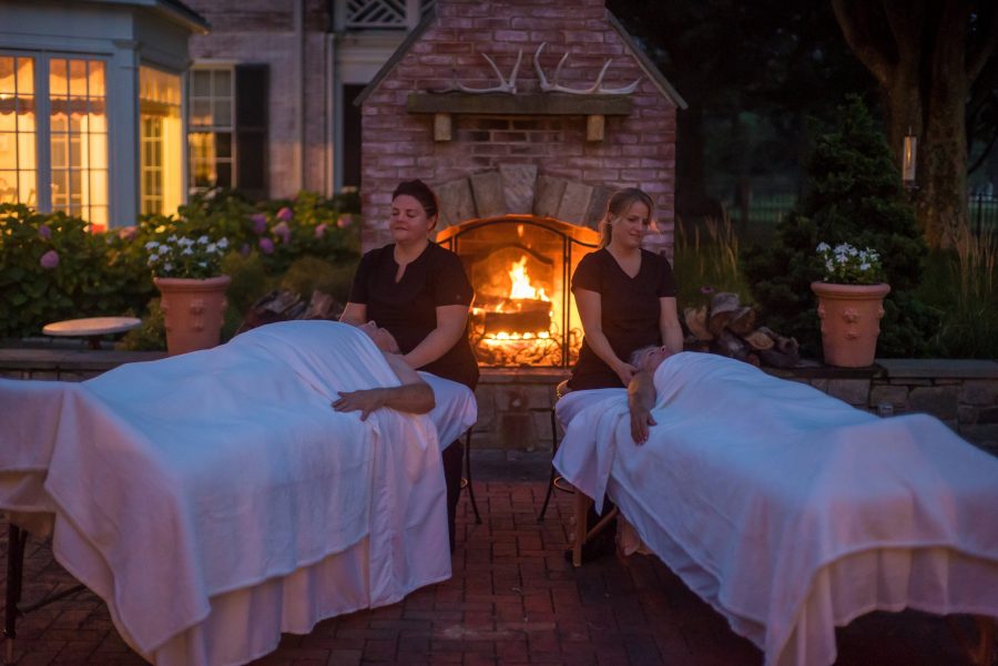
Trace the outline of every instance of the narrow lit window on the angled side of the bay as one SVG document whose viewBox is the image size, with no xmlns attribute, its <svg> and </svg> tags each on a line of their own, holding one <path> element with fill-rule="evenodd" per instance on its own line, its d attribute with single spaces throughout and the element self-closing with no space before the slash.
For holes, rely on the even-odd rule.
<svg viewBox="0 0 998 666">
<path fill-rule="evenodd" d="M 142 213 L 173 213 L 181 204 L 180 105 L 180 76 L 139 68 Z"/>
</svg>

